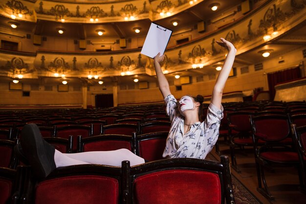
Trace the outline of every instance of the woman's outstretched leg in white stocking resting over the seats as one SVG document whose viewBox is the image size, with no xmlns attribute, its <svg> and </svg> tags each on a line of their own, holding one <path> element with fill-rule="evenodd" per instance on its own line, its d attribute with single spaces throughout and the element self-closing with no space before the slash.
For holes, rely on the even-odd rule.
<svg viewBox="0 0 306 204">
<path fill-rule="evenodd" d="M 143 158 L 138 157 L 128 149 L 118 149 L 114 151 L 81 152 L 63 155 L 70 159 L 109 166 L 121 166 L 121 162 L 124 160 L 129 160 L 131 166 L 142 164 L 145 162 Z"/>
</svg>

